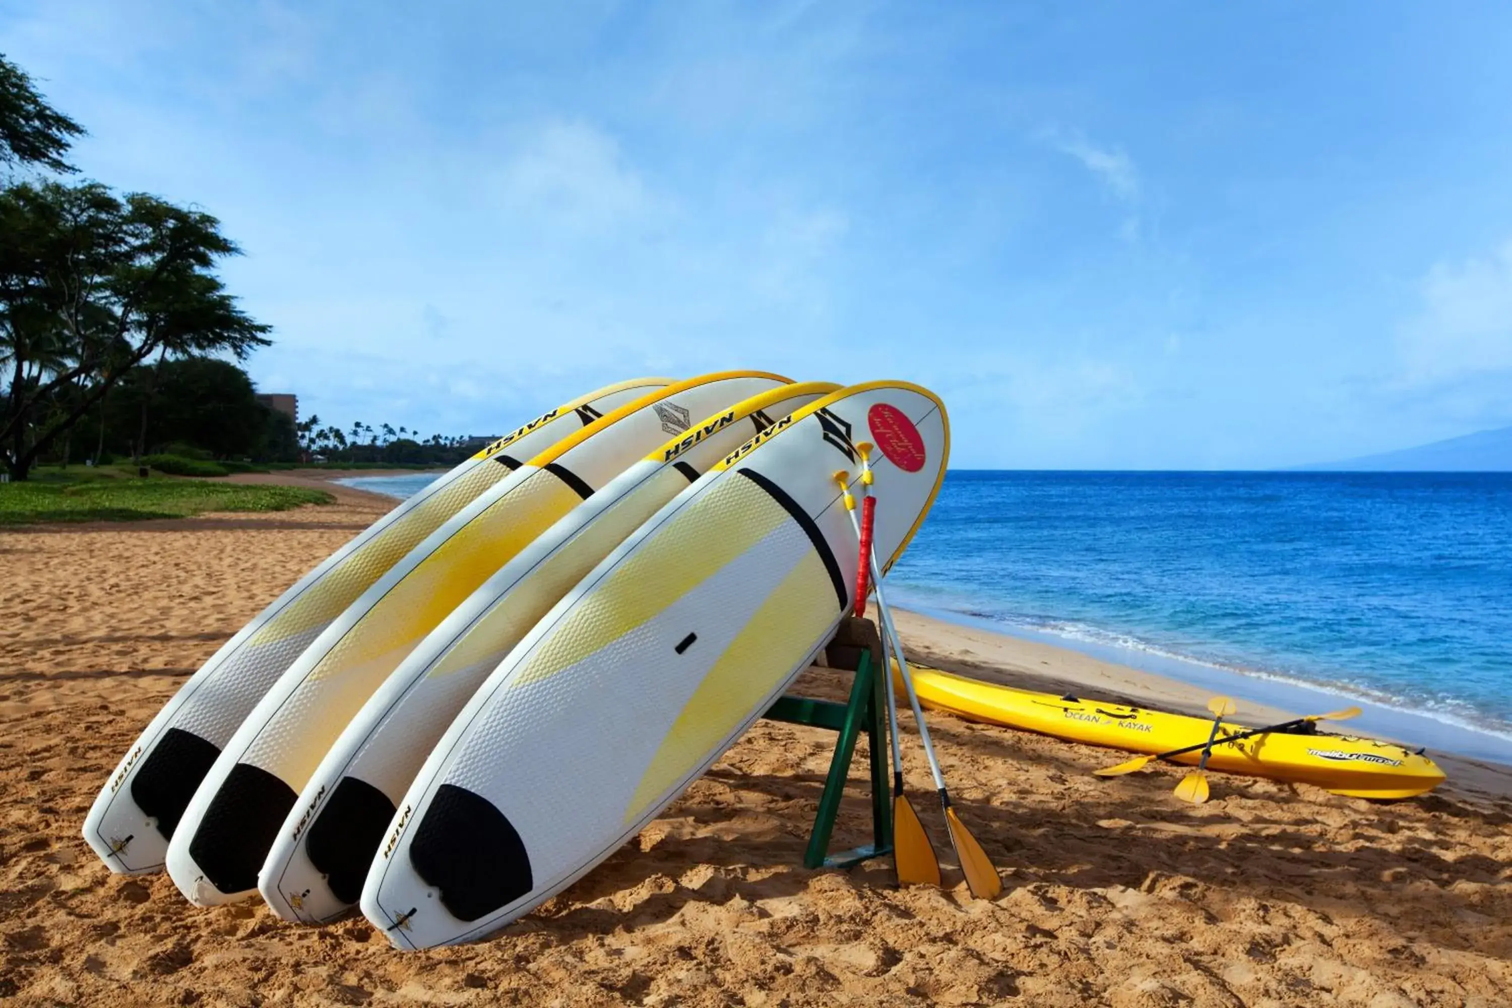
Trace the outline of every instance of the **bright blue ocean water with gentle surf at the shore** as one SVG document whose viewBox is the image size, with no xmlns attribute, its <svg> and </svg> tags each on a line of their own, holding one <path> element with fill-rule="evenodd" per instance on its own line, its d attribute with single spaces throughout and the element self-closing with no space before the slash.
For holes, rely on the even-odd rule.
<svg viewBox="0 0 1512 1008">
<path fill-rule="evenodd" d="M 1512 760 L 1512 473 L 953 470 L 888 585 L 1241 700 L 1356 698 L 1361 731 Z"/>
</svg>

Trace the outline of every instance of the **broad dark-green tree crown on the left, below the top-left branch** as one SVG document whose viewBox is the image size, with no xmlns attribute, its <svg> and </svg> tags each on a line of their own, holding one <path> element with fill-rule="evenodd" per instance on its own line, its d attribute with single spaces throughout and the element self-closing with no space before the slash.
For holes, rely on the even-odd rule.
<svg viewBox="0 0 1512 1008">
<path fill-rule="evenodd" d="M 242 360 L 268 345 L 212 272 L 239 249 L 209 213 L 98 183 L 18 183 L 0 190 L 0 446 L 14 479 L 148 358 Z M 68 387 L 67 408 L 44 408 Z"/>
</svg>

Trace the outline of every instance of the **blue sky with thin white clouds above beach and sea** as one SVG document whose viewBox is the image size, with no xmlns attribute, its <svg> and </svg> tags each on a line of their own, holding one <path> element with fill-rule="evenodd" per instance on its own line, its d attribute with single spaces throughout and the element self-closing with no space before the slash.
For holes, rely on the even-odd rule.
<svg viewBox="0 0 1512 1008">
<path fill-rule="evenodd" d="M 1507 38 L 1501 3 L 0 0 L 85 174 L 243 245 L 249 369 L 305 414 L 909 378 L 960 467 L 1512 425 Z"/>
</svg>

